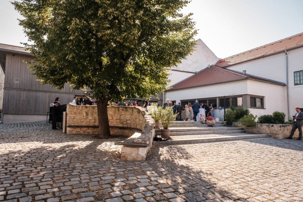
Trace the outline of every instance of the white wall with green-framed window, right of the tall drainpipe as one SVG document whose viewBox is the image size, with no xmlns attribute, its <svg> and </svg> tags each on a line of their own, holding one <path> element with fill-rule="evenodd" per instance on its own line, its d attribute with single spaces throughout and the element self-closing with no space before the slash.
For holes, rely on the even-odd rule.
<svg viewBox="0 0 303 202">
<path fill-rule="evenodd" d="M 303 108 L 303 84 L 294 84 L 294 72 L 303 71 L 303 48 L 288 51 L 289 113 L 295 114 L 295 108 Z"/>
</svg>

